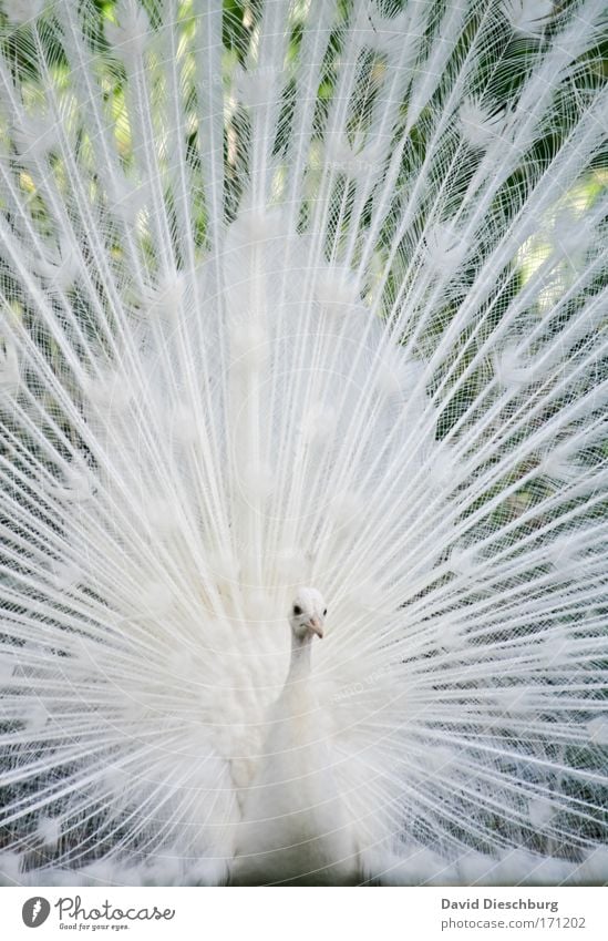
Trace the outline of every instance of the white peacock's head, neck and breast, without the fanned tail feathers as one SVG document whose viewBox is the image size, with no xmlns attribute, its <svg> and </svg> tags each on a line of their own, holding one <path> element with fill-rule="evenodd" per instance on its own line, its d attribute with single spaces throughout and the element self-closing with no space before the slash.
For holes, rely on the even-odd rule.
<svg viewBox="0 0 608 941">
<path fill-rule="evenodd" d="M 301 589 L 291 605 L 285 686 L 268 710 L 262 751 L 244 792 L 231 879 L 236 884 L 355 884 L 358 821 L 348 815 L 331 729 L 311 673 L 324 602 Z M 343 784 L 343 781 L 342 781 Z"/>
</svg>

